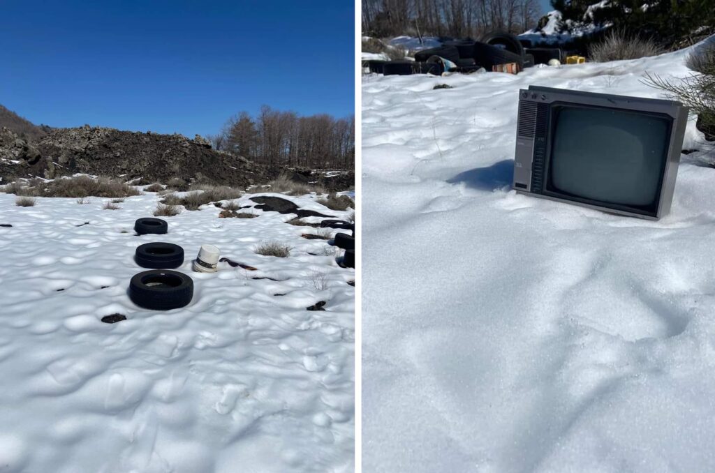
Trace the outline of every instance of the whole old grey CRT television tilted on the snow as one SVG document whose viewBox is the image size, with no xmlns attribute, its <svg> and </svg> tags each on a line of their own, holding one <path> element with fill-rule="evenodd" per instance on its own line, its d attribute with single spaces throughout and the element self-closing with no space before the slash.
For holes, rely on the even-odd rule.
<svg viewBox="0 0 715 473">
<path fill-rule="evenodd" d="M 680 102 L 519 91 L 513 189 L 615 214 L 668 213 L 688 109 Z"/>
</svg>

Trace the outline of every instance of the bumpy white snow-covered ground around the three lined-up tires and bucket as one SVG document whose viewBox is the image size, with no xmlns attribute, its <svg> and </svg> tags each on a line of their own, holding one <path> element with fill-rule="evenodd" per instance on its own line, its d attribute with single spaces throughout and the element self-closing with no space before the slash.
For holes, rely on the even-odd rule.
<svg viewBox="0 0 715 473">
<path fill-rule="evenodd" d="M 12 225 L 0 227 L 1 472 L 352 471 L 355 273 L 325 241 L 300 237 L 314 229 L 260 210 L 219 219 L 209 205 L 139 237 L 134 220 L 152 216 L 154 193 L 119 210 L 36 200 L 25 208 L 0 194 L 0 224 Z M 292 256 L 255 254 L 266 240 Z M 184 248 L 187 307 L 129 300 L 146 242 Z M 258 271 L 192 272 L 201 244 Z M 319 301 L 325 312 L 306 310 Z M 114 313 L 127 320 L 100 322 Z"/>
</svg>

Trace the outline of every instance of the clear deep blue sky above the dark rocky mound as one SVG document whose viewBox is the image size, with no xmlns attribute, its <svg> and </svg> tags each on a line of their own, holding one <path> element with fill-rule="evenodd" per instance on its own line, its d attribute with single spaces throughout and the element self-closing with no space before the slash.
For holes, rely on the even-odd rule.
<svg viewBox="0 0 715 473">
<path fill-rule="evenodd" d="M 354 112 L 352 0 L 0 0 L 0 104 L 36 124 L 216 133 Z"/>
</svg>

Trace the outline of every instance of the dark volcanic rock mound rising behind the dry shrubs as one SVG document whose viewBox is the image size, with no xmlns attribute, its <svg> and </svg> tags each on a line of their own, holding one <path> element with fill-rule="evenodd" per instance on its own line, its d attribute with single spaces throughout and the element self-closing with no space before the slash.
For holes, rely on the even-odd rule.
<svg viewBox="0 0 715 473">
<path fill-rule="evenodd" d="M 265 182 L 273 174 L 265 166 L 211 149 L 200 136 L 189 139 L 180 134 L 149 134 L 88 125 L 53 129 L 34 146 L 19 144 L 19 150 L 13 154 L 13 159 L 24 159 L 25 165 L 0 166 L 6 180 L 28 174 L 54 178 L 87 173 L 124 176 L 127 180 L 143 177 L 164 183 L 172 177 L 181 177 L 242 187 Z"/>
</svg>

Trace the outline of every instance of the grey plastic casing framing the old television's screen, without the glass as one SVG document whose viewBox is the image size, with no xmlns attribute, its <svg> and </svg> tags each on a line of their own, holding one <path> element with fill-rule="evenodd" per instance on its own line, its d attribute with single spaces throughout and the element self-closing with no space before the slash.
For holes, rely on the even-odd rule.
<svg viewBox="0 0 715 473">
<path fill-rule="evenodd" d="M 624 109 L 663 114 L 673 119 L 669 139 L 664 176 L 660 189 L 658 209 L 655 214 L 643 211 L 613 209 L 607 204 L 588 204 L 559 196 L 546 195 L 548 162 L 551 157 L 551 105 L 568 104 Z M 528 194 L 543 199 L 576 204 L 590 209 L 612 214 L 636 216 L 641 219 L 657 220 L 670 211 L 675 189 L 678 164 L 688 109 L 679 101 L 644 99 L 623 95 L 595 94 L 592 92 L 553 89 L 551 87 L 529 86 L 519 91 L 519 111 L 516 126 L 516 154 L 514 155 L 514 179 L 512 188 L 520 194 Z"/>
</svg>

